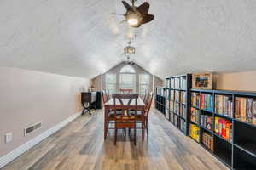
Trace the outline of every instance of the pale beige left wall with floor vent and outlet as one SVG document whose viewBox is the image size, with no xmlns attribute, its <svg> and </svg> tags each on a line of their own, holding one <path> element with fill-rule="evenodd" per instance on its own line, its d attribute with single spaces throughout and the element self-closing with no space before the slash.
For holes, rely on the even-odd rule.
<svg viewBox="0 0 256 170">
<path fill-rule="evenodd" d="M 0 157 L 81 111 L 80 92 L 90 80 L 0 67 Z M 43 127 L 24 136 L 24 127 Z M 13 133 L 5 144 L 3 134 Z"/>
</svg>

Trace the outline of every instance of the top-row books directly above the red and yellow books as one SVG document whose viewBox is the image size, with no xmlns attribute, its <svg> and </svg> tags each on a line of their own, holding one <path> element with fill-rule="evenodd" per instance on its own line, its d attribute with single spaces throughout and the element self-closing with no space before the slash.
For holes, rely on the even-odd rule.
<svg viewBox="0 0 256 170">
<path fill-rule="evenodd" d="M 216 94 L 215 95 L 215 112 L 220 115 L 232 117 L 232 112 L 233 112 L 232 97 Z"/>
</svg>

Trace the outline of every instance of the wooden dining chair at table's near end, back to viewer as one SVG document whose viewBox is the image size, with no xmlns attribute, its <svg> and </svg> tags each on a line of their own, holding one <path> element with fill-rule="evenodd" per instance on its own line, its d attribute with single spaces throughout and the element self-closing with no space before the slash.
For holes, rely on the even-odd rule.
<svg viewBox="0 0 256 170">
<path fill-rule="evenodd" d="M 119 129 L 134 129 L 134 144 L 136 144 L 137 130 L 137 99 L 138 94 L 113 94 L 113 118 L 114 118 L 114 144 L 117 141 L 117 133 Z M 124 105 L 126 100 L 127 104 Z M 119 103 L 119 105 L 117 105 Z M 130 105 L 133 105 L 133 115 L 130 114 Z M 120 112 L 119 109 L 121 109 Z"/>
</svg>

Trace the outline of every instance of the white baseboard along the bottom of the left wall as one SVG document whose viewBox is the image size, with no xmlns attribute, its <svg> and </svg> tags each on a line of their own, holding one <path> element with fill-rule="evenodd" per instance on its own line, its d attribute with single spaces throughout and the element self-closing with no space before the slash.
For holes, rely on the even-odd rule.
<svg viewBox="0 0 256 170">
<path fill-rule="evenodd" d="M 0 168 L 7 165 L 10 161 L 15 160 L 18 156 L 25 153 L 26 150 L 31 149 L 34 145 L 40 143 L 42 140 L 49 137 L 51 134 L 57 132 L 62 127 L 65 127 L 69 122 L 72 122 L 74 119 L 79 117 L 81 115 L 81 112 L 76 113 L 73 116 L 68 117 L 66 120 L 60 122 L 59 124 L 55 125 L 55 127 L 50 128 L 49 130 L 45 131 L 44 133 L 41 133 L 36 138 L 31 139 L 26 144 L 22 144 L 20 147 L 16 148 L 15 150 L 9 152 L 6 156 L 0 157 Z"/>
</svg>

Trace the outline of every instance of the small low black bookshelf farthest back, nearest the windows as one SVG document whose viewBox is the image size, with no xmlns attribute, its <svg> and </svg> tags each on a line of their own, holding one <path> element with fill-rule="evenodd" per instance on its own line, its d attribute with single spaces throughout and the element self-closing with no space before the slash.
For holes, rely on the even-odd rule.
<svg viewBox="0 0 256 170">
<path fill-rule="evenodd" d="M 155 108 L 163 113 L 166 114 L 166 88 L 164 87 L 156 87 L 155 88 Z"/>
</svg>

